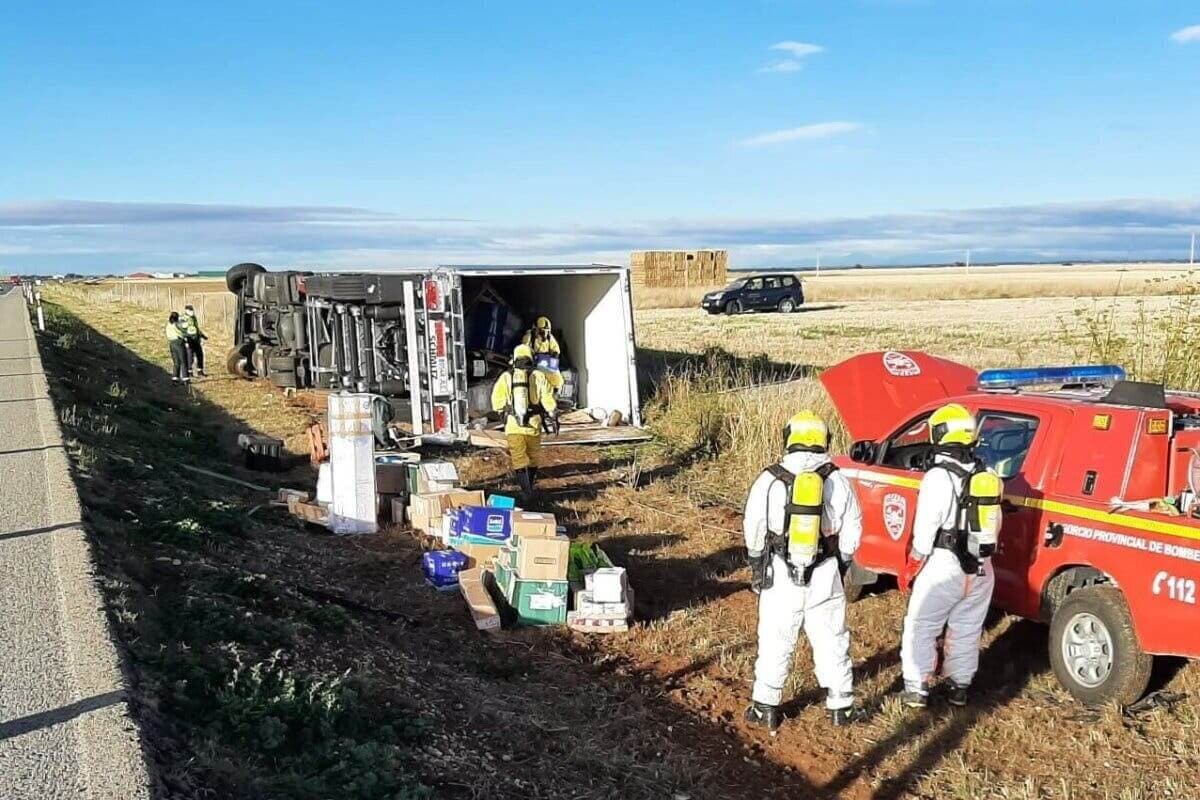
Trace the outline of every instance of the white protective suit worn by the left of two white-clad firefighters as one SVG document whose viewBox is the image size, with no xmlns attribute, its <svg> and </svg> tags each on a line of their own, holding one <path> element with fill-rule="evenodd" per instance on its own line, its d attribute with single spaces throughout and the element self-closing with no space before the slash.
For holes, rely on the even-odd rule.
<svg viewBox="0 0 1200 800">
<path fill-rule="evenodd" d="M 829 461 L 826 453 L 794 452 L 780 462 L 793 475 L 810 473 Z M 858 549 L 863 534 L 863 512 L 850 481 L 833 473 L 822 493 L 821 533 L 836 535 L 845 560 Z M 767 531 L 784 530 L 784 506 L 787 487 L 770 473 L 763 473 L 750 487 L 742 530 L 751 560 L 758 557 Z M 796 585 L 787 575 L 787 564 L 775 555 L 774 583 L 758 597 L 758 658 L 755 661 L 754 694 L 756 703 L 779 705 L 784 684 L 792 664 L 792 652 L 800 627 L 812 646 L 817 682 L 828 692 L 826 706 L 844 709 L 853 704 L 854 681 L 850 661 L 850 631 L 846 630 L 846 596 L 841 588 L 838 559 L 826 559 L 812 570 L 806 587 Z"/>
</svg>

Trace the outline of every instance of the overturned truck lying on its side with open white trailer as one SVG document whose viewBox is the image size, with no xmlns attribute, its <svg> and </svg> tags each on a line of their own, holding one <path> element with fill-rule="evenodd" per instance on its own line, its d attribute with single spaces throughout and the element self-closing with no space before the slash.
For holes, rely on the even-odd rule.
<svg viewBox="0 0 1200 800">
<path fill-rule="evenodd" d="M 415 443 L 486 433 L 491 386 L 541 315 L 562 347 L 564 405 L 622 421 L 604 432 L 599 423 L 564 429 L 564 440 L 641 438 L 625 267 L 305 272 L 238 264 L 226 283 L 238 297 L 229 372 L 284 389 L 379 395 Z"/>
</svg>

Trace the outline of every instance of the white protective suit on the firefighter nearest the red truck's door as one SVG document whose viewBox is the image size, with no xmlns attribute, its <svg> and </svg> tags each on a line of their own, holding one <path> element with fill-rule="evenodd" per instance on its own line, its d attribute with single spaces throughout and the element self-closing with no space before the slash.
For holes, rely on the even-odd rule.
<svg viewBox="0 0 1200 800">
<path fill-rule="evenodd" d="M 912 582 L 912 596 L 900 639 L 905 688 L 911 692 L 926 691 L 937 666 L 937 637 L 943 628 L 942 674 L 958 686 L 971 685 L 979 668 L 983 620 L 996 585 L 990 558 L 982 563 L 983 575 L 965 575 L 954 553 L 934 547 L 937 531 L 954 525 L 959 498 L 965 488 L 961 477 L 937 468 L 946 462 L 968 470 L 972 467 L 938 453 L 917 493 L 912 557 L 924 559 L 924 565 Z"/>
</svg>

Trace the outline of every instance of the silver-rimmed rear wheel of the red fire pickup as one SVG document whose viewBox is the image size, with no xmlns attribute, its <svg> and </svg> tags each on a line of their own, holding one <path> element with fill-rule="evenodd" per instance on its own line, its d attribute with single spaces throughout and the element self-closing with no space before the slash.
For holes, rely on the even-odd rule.
<svg viewBox="0 0 1200 800">
<path fill-rule="evenodd" d="M 1050 620 L 1050 666 L 1088 708 L 1138 700 L 1153 661 L 1138 644 L 1129 606 L 1115 587 L 1076 589 Z"/>
</svg>

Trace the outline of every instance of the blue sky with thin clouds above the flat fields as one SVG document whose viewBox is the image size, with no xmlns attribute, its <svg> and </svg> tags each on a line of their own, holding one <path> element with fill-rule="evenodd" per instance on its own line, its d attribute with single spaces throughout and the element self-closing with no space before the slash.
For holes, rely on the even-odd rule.
<svg viewBox="0 0 1200 800">
<path fill-rule="evenodd" d="M 1189 6 L 10 4 L 0 267 L 1184 257 Z"/>
</svg>

